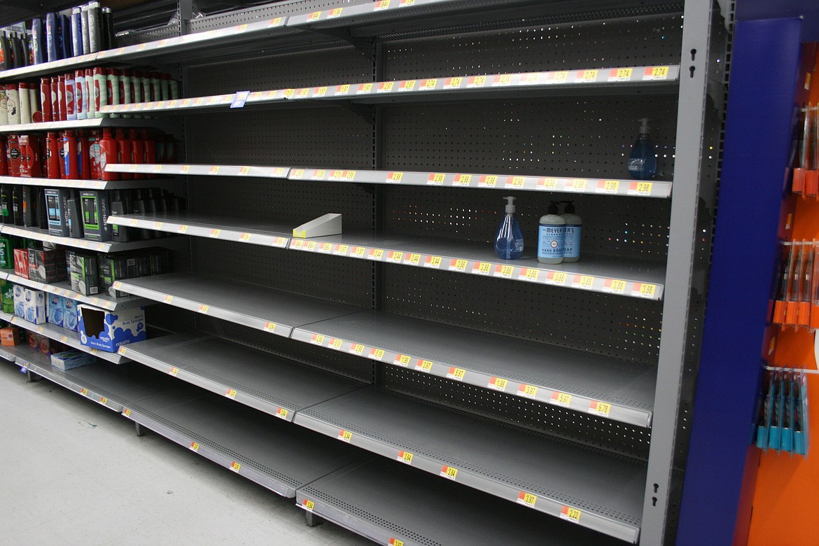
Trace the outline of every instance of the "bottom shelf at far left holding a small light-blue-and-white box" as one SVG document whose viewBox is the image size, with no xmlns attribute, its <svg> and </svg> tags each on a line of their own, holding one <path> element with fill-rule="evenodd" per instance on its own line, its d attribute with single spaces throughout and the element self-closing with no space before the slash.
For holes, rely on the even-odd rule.
<svg viewBox="0 0 819 546">
<path fill-rule="evenodd" d="M 73 390 L 115 412 L 123 411 L 124 405 L 130 400 L 143 399 L 168 388 L 168 384 L 163 381 L 164 377 L 153 370 L 112 368 L 106 363 L 96 363 L 63 372 L 52 368 L 48 355 L 38 353 L 28 345 L 5 349 L 10 349 L 16 354 L 16 363 L 21 368 Z"/>
</svg>

